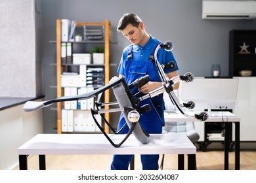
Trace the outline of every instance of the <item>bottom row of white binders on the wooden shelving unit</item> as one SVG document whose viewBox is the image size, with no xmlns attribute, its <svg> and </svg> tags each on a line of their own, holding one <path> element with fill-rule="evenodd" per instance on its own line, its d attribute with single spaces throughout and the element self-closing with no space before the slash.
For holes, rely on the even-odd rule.
<svg viewBox="0 0 256 183">
<path fill-rule="evenodd" d="M 101 116 L 95 115 L 101 125 Z M 62 132 L 100 132 L 90 110 L 62 109 Z"/>
</svg>

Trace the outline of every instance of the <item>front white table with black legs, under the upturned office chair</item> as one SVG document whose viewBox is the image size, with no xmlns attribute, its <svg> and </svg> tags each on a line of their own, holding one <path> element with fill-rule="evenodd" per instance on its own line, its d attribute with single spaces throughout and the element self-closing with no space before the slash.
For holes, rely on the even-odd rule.
<svg viewBox="0 0 256 183">
<path fill-rule="evenodd" d="M 109 135 L 120 142 L 125 135 Z M 27 156 L 39 155 L 39 169 L 45 169 L 47 154 L 178 154 L 179 160 L 188 155 L 188 169 L 194 169 L 196 147 L 186 135 L 150 134 L 148 144 L 140 144 L 133 135 L 115 148 L 103 134 L 38 134 L 18 148 L 20 169 L 28 169 Z M 179 169 L 184 165 L 179 164 Z"/>
</svg>

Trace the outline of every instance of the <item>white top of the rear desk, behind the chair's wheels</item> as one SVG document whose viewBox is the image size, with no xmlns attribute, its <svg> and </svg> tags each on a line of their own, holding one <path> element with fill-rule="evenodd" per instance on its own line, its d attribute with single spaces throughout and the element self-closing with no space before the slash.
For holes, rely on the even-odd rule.
<svg viewBox="0 0 256 183">
<path fill-rule="evenodd" d="M 194 116 L 194 114 L 200 114 L 200 112 L 186 112 L 186 114 L 190 116 Z M 212 111 L 209 115 L 208 120 L 205 122 L 240 122 L 240 118 L 228 111 Z M 165 112 L 165 122 L 201 122 L 196 118 L 188 118 L 179 112 L 167 113 Z"/>
</svg>

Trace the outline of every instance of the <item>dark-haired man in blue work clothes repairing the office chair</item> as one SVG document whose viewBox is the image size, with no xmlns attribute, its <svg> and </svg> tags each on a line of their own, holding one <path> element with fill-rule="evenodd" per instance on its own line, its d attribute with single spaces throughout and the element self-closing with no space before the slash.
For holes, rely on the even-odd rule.
<svg viewBox="0 0 256 183">
<path fill-rule="evenodd" d="M 123 50 L 121 61 L 117 69 L 119 75 L 125 76 L 127 84 L 135 81 L 137 78 L 141 78 L 144 75 L 150 76 L 150 82 L 144 84 L 139 89 L 134 88 L 131 93 L 137 97 L 141 97 L 145 93 L 161 86 L 160 75 L 156 63 L 154 62 L 154 50 L 156 46 L 161 42 L 149 35 L 142 20 L 137 14 L 127 13 L 124 14 L 119 20 L 117 25 L 117 31 L 121 32 L 129 41 L 133 44 L 127 46 Z M 175 62 L 175 69 L 173 71 L 165 69 L 165 73 L 169 78 L 178 75 L 179 69 L 172 52 L 166 52 L 160 49 L 158 52 L 158 61 L 160 64 Z M 175 84 L 173 89 L 179 88 L 179 83 Z M 164 125 L 163 110 L 164 101 L 163 94 L 153 97 L 152 99 L 146 99 L 140 102 L 140 106 L 144 104 L 150 104 L 150 112 L 146 112 L 140 116 L 140 125 L 148 133 L 162 133 L 162 127 Z M 125 124 L 123 114 L 121 114 L 118 124 L 118 129 Z M 128 129 L 122 131 L 127 133 Z M 133 155 L 114 155 L 111 169 L 128 169 L 129 163 Z M 158 169 L 159 155 L 141 155 L 142 169 L 154 170 Z"/>
</svg>

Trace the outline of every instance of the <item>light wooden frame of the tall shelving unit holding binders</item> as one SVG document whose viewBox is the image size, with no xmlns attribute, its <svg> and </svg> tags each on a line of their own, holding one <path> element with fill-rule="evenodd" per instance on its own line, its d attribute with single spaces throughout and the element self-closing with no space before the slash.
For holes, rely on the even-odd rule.
<svg viewBox="0 0 256 183">
<path fill-rule="evenodd" d="M 73 46 L 79 46 L 84 51 L 86 46 L 90 46 L 92 44 L 104 44 L 104 64 L 102 65 L 93 65 L 89 64 L 88 67 L 102 67 L 104 68 L 104 83 L 107 84 L 110 80 L 110 21 L 105 20 L 105 22 L 76 22 L 76 27 L 83 27 L 84 25 L 88 26 L 102 26 L 104 27 L 104 40 L 93 40 L 93 41 L 79 41 L 79 42 L 68 42 Z M 64 71 L 66 71 L 67 67 L 72 66 L 72 64 L 62 64 L 61 60 L 61 29 L 62 29 L 62 20 L 56 20 L 56 97 L 62 97 L 64 95 L 64 88 L 61 84 L 61 76 Z M 87 48 L 88 49 L 88 48 Z M 80 50 L 81 51 L 81 50 Z M 75 65 L 74 65 L 75 66 Z M 106 90 L 104 92 L 104 103 L 110 102 L 110 90 Z M 62 108 L 64 107 L 64 103 L 57 103 L 57 133 L 62 133 Z M 105 106 L 104 109 L 108 109 L 108 106 Z M 106 113 L 106 120 L 110 121 L 110 114 Z M 109 133 L 108 126 L 105 125 L 104 129 L 106 133 Z"/>
</svg>

